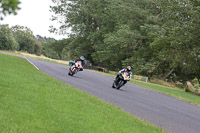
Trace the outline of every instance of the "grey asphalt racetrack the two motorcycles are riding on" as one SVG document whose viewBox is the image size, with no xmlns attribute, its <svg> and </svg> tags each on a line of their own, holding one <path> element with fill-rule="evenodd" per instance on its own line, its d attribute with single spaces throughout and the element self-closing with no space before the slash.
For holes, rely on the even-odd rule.
<svg viewBox="0 0 200 133">
<path fill-rule="evenodd" d="M 44 73 L 120 107 L 170 133 L 200 133 L 200 106 L 127 83 L 113 89 L 113 77 L 84 70 L 68 76 L 68 67 L 27 58 Z"/>
</svg>

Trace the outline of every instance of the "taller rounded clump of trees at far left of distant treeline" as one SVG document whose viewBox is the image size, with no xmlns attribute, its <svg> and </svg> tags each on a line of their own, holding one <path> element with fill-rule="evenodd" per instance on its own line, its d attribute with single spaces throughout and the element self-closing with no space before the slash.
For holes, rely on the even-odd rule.
<svg viewBox="0 0 200 133">
<path fill-rule="evenodd" d="M 32 31 L 23 26 L 0 25 L 0 49 L 26 51 L 41 55 L 42 44 L 35 38 Z"/>
</svg>

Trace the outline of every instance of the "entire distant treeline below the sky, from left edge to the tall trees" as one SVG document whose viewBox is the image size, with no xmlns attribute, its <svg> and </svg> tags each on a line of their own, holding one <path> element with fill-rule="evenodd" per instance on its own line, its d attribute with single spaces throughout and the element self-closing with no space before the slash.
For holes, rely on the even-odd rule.
<svg viewBox="0 0 200 133">
<path fill-rule="evenodd" d="M 31 29 L 24 26 L 0 24 L 0 49 L 28 52 L 30 54 L 45 55 L 54 59 L 61 58 L 56 52 L 58 42 L 54 38 L 34 36 Z M 54 46 L 55 45 L 55 46 Z"/>
</svg>

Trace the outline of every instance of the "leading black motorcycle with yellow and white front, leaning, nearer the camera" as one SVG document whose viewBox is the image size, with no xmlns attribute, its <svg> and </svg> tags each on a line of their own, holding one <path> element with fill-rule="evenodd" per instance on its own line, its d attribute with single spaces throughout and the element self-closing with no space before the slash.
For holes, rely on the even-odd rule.
<svg viewBox="0 0 200 133">
<path fill-rule="evenodd" d="M 116 89 L 120 89 L 127 81 L 130 80 L 130 77 L 127 72 L 119 75 L 118 79 L 115 79 L 112 87 Z"/>
</svg>

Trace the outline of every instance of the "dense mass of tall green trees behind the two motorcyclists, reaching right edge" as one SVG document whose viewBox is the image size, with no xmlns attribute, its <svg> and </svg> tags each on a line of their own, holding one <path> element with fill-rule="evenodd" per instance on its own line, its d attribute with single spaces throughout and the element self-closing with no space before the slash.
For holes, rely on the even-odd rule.
<svg viewBox="0 0 200 133">
<path fill-rule="evenodd" d="M 111 70 L 131 65 L 134 73 L 161 79 L 200 75 L 198 0 L 52 1 L 53 20 L 62 18 L 54 30 L 72 28 L 64 48 L 72 56 Z"/>
</svg>

